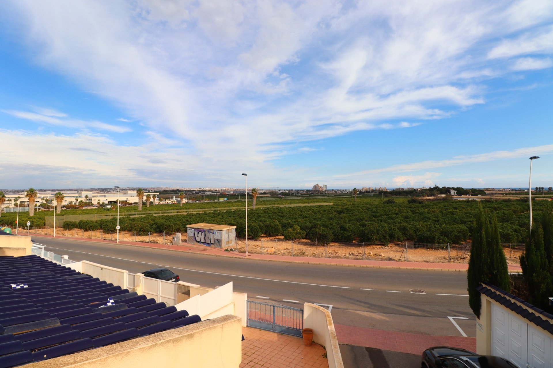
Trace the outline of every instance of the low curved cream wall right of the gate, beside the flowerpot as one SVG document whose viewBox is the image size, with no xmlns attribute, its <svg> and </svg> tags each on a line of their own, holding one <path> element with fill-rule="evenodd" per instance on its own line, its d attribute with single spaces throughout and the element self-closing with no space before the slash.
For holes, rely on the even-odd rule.
<svg viewBox="0 0 553 368">
<path fill-rule="evenodd" d="M 330 312 L 323 307 L 305 303 L 304 328 L 311 328 L 313 341 L 326 347 L 328 368 L 343 368 L 342 354 Z"/>
</svg>

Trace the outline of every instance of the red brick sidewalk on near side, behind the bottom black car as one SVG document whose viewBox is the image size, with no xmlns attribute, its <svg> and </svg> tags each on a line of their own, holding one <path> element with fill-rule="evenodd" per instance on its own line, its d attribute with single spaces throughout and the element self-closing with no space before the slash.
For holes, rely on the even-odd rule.
<svg viewBox="0 0 553 368">
<path fill-rule="evenodd" d="M 457 336 L 433 336 L 407 332 L 395 332 L 334 324 L 340 344 L 367 346 L 369 348 L 421 354 L 430 346 L 447 345 L 476 351 L 476 338 Z"/>
</svg>

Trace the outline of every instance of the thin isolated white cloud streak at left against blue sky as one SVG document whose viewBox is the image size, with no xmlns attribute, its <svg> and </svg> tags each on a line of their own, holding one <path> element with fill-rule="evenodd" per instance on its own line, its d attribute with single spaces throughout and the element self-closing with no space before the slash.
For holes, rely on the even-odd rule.
<svg viewBox="0 0 553 368">
<path fill-rule="evenodd" d="M 58 113 L 55 111 L 55 115 L 51 110 L 46 111 L 49 115 L 29 113 L 27 111 L 16 110 L 2 110 L 4 113 L 15 116 L 15 118 L 26 119 L 34 122 L 45 122 L 50 125 L 65 126 L 73 129 L 99 129 L 107 130 L 116 133 L 125 133 L 131 131 L 128 127 L 106 124 L 101 121 L 87 121 L 78 119 L 60 119 L 54 116 L 66 117 L 66 114 Z"/>
</svg>

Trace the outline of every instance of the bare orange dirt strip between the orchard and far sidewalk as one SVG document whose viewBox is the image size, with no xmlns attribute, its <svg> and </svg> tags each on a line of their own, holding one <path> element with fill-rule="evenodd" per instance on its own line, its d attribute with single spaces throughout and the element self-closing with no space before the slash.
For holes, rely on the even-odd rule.
<svg viewBox="0 0 553 368">
<path fill-rule="evenodd" d="M 30 230 L 31 233 L 53 234 L 53 229 Z M 116 233 L 103 233 L 96 231 L 63 230 L 56 228 L 56 235 L 71 236 L 92 239 L 116 239 Z M 174 234 L 163 233 L 134 234 L 129 231 L 119 232 L 119 240 L 127 242 L 144 242 L 171 244 Z M 437 248 L 436 246 L 429 246 Z M 343 258 L 343 259 L 371 259 L 371 260 L 395 260 L 409 262 L 449 262 L 468 263 L 468 252 L 470 247 L 465 244 L 452 245 L 448 255 L 447 249 L 407 249 L 403 243 L 390 243 L 389 246 L 382 244 L 365 245 L 359 243 L 318 243 L 309 240 L 285 241 L 283 237 L 263 237 L 259 240 L 248 240 L 248 252 L 257 254 L 294 255 L 296 257 L 319 257 L 319 258 Z M 507 263 L 518 264 L 523 248 L 503 248 Z M 246 252 L 246 240 L 237 239 L 237 247 L 234 251 Z"/>
</svg>

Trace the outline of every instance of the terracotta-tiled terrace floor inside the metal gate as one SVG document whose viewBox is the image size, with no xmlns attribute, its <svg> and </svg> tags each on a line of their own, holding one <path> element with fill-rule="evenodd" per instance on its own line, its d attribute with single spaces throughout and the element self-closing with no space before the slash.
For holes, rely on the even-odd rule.
<svg viewBox="0 0 553 368">
<path fill-rule="evenodd" d="M 243 327 L 242 363 L 240 367 L 328 368 L 321 345 L 304 346 L 299 337 Z"/>
</svg>

